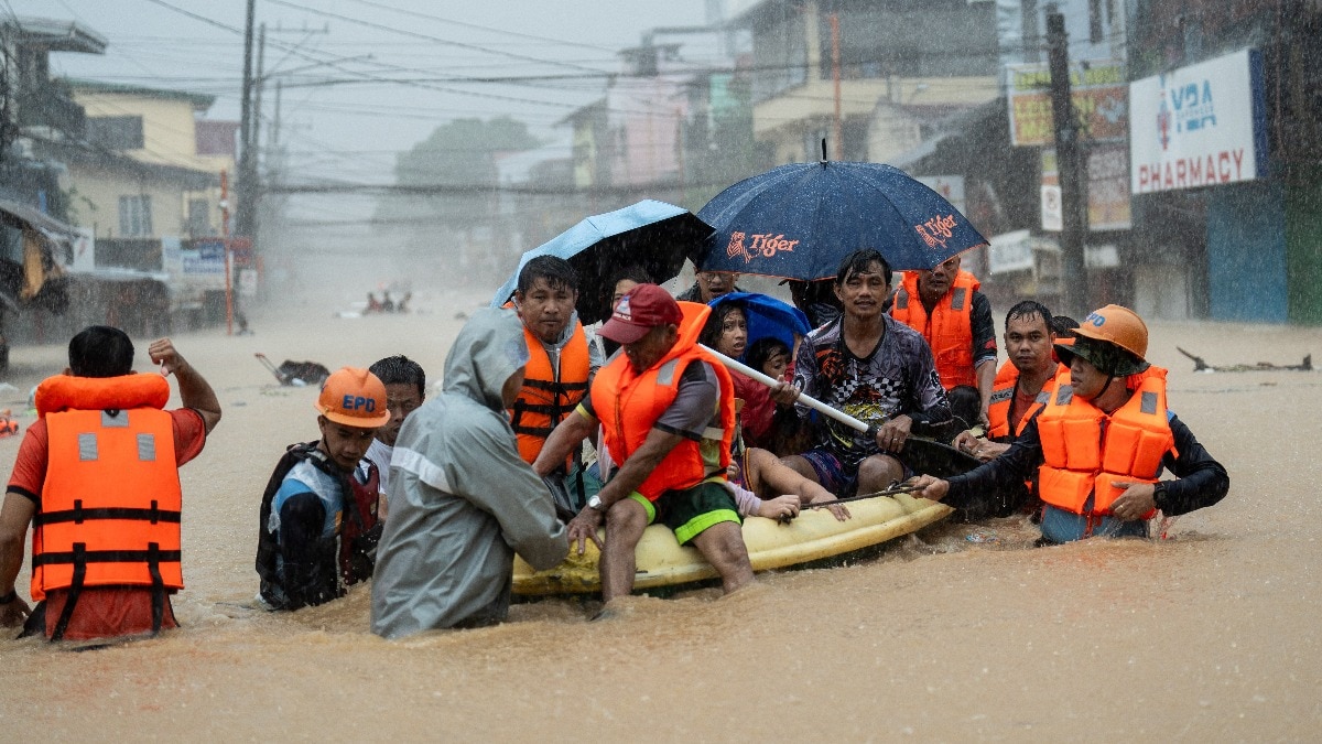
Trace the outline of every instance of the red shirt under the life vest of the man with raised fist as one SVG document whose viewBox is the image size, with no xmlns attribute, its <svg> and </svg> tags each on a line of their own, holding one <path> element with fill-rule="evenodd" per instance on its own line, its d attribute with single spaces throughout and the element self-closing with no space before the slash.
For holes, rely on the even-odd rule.
<svg viewBox="0 0 1322 744">
<path fill-rule="evenodd" d="M 206 445 L 206 422 L 202 414 L 192 408 L 169 412 L 175 424 L 175 462 L 184 465 L 202 451 Z M 9 475 L 9 491 L 26 496 L 41 511 L 41 491 L 46 482 L 46 420 L 38 418 L 19 445 L 19 457 Z M 46 635 L 54 631 L 59 613 L 63 610 L 67 589 L 46 592 Z M 165 601 L 165 617 L 161 628 L 175 628 L 175 612 Z M 83 641 L 114 635 L 134 635 L 152 630 L 151 589 L 126 589 L 118 586 L 89 586 L 78 596 L 78 609 L 69 621 L 65 638 Z"/>
</svg>

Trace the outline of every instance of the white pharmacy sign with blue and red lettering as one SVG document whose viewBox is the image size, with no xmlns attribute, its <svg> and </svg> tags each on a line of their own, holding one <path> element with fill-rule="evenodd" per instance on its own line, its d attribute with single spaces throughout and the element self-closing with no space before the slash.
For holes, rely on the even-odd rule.
<svg viewBox="0 0 1322 744">
<path fill-rule="evenodd" d="M 1129 85 L 1130 188 L 1247 181 L 1266 164 L 1263 57 L 1255 49 Z"/>
</svg>

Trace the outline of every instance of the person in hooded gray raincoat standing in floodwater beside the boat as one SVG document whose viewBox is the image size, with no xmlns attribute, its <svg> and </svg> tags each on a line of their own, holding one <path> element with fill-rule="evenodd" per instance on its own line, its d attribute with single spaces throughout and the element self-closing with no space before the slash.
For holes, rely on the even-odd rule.
<svg viewBox="0 0 1322 744">
<path fill-rule="evenodd" d="M 527 357 L 513 311 L 477 311 L 449 349 L 442 395 L 405 420 L 371 585 L 373 633 L 500 622 L 514 553 L 538 569 L 568 553 L 551 494 L 520 458 L 505 417 Z"/>
</svg>

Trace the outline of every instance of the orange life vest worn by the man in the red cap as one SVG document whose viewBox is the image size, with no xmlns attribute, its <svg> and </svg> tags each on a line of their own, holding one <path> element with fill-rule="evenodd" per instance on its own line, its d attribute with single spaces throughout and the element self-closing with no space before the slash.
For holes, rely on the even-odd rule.
<svg viewBox="0 0 1322 744">
<path fill-rule="evenodd" d="M 592 383 L 592 410 L 602 421 L 605 446 L 612 459 L 624 463 L 642 446 L 653 424 L 674 402 L 680 379 L 689 364 L 711 363 L 720 380 L 720 400 L 702 441 L 680 441 L 639 486 L 648 500 L 666 491 L 691 488 L 711 477 L 724 477 L 730 465 L 730 443 L 735 430 L 734 383 L 730 372 L 707 351 L 697 346 L 698 335 L 711 308 L 694 302 L 681 302 L 683 322 L 674 347 L 641 375 L 625 355 L 598 372 Z"/>
</svg>

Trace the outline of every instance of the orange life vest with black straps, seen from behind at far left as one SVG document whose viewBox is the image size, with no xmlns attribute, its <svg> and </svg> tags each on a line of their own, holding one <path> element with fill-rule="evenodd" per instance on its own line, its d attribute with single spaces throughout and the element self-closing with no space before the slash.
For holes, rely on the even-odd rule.
<svg viewBox="0 0 1322 744">
<path fill-rule="evenodd" d="M 57 375 L 37 388 L 49 450 L 33 518 L 34 600 L 82 586 L 184 588 L 168 400 L 160 375 Z"/>
</svg>

